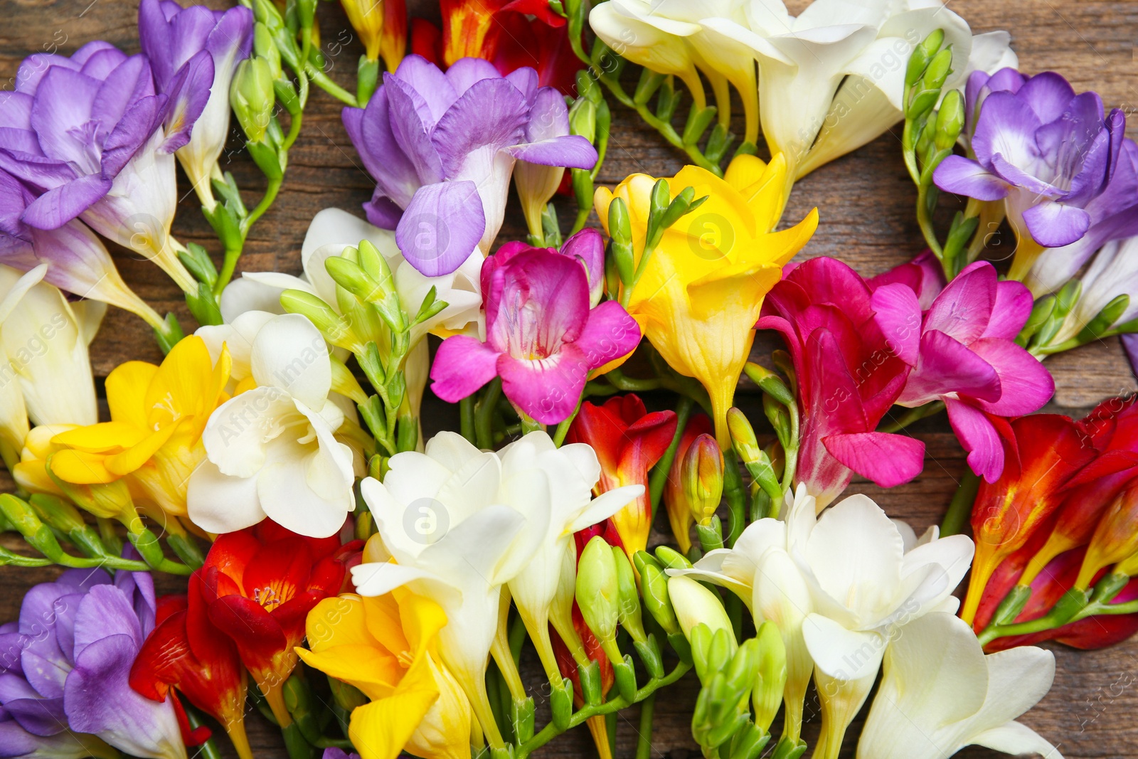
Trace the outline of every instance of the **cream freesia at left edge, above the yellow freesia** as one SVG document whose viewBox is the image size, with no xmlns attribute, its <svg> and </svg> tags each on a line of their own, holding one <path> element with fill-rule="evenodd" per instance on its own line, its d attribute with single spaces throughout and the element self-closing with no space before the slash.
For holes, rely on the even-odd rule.
<svg viewBox="0 0 1138 759">
<path fill-rule="evenodd" d="M 68 303 L 57 288 L 41 281 L 47 271 L 47 264 L 26 274 L 0 266 L 0 395 L 3 427 L 13 438 L 19 429 L 27 434 L 27 418 L 35 424 L 99 421 L 86 346 L 107 305 Z M 26 407 L 26 416 L 20 407 Z M 16 451 L 22 446 L 23 438 Z"/>
</svg>

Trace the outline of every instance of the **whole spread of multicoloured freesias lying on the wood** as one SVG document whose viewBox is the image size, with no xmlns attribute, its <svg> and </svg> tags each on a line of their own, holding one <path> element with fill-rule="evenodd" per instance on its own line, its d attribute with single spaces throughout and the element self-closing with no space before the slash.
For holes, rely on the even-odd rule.
<svg viewBox="0 0 1138 759">
<path fill-rule="evenodd" d="M 0 757 L 251 759 L 256 719 L 290 759 L 525 759 L 580 726 L 612 759 L 635 708 L 646 759 L 681 678 L 709 759 L 836 759 L 867 702 L 860 759 L 1058 757 L 1015 721 L 1055 675 L 1034 644 L 1138 632 L 1138 406 L 1036 413 L 1047 356 L 1138 357 L 1124 114 L 939 1 L 341 0 L 348 86 L 315 5 L 141 0 L 141 53 L 36 53 L 0 92 L 0 564 L 66 568 L 0 626 Z M 318 90 L 371 198 L 315 214 L 303 273 L 239 269 Z M 597 185 L 610 100 L 691 165 Z M 898 124 L 923 253 L 794 261 L 825 223 L 784 218 L 795 180 Z M 212 251 L 171 234 L 175 164 Z M 108 304 L 164 358 L 110 371 L 100 421 Z M 428 385 L 456 422 L 429 438 Z M 842 497 L 921 475 L 906 428 L 941 412 L 941 527 Z"/>
</svg>

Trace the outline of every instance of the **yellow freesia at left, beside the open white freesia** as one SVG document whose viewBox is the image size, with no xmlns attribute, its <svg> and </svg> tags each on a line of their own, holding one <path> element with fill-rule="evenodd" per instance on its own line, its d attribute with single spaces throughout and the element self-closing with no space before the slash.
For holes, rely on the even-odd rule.
<svg viewBox="0 0 1138 759">
<path fill-rule="evenodd" d="M 122 364 L 107 376 L 110 421 L 55 435 L 51 472 L 75 485 L 126 478 L 132 494 L 184 515 L 190 475 L 205 459 L 201 430 L 229 399 L 230 366 L 226 349 L 214 364 L 195 336 L 174 346 L 160 366 Z"/>
</svg>

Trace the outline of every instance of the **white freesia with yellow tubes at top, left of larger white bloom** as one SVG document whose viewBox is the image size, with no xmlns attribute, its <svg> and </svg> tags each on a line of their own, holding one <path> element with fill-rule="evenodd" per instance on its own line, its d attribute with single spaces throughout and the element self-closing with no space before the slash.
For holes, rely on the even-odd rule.
<svg viewBox="0 0 1138 759">
<path fill-rule="evenodd" d="M 596 35 L 622 58 L 683 80 L 693 107 L 707 107 L 699 69 L 715 91 L 719 123 L 731 123 L 729 82 L 743 101 L 743 139 L 759 137 L 759 91 L 751 49 L 728 30 L 745 28 L 750 9 L 742 0 L 650 2 L 615 0 L 588 14 Z"/>
</svg>

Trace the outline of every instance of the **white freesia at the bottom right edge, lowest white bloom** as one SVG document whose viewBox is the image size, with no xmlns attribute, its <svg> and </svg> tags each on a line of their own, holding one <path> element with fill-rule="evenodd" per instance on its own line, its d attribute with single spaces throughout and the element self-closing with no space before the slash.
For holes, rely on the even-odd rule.
<svg viewBox="0 0 1138 759">
<path fill-rule="evenodd" d="M 902 627 L 885 651 L 858 759 L 947 759 L 966 745 L 1063 759 L 1014 721 L 1055 678 L 1055 657 L 1036 646 L 984 655 L 968 625 L 932 613 Z"/>
</svg>

